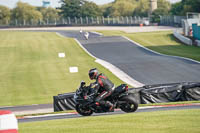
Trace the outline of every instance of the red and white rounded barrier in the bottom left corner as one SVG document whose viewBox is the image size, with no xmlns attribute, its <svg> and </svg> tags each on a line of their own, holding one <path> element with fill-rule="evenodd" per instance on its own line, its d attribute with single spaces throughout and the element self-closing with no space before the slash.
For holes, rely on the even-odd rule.
<svg viewBox="0 0 200 133">
<path fill-rule="evenodd" d="M 0 110 L 0 133 L 18 133 L 17 119 L 9 110 Z"/>
</svg>

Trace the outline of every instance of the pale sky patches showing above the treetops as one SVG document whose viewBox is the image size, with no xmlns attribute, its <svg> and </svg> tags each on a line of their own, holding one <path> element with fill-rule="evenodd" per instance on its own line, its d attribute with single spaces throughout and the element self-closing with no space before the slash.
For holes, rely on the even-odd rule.
<svg viewBox="0 0 200 133">
<path fill-rule="evenodd" d="M 0 5 L 4 5 L 4 6 L 7 6 L 9 8 L 14 8 L 18 1 L 19 0 L 0 0 Z M 33 6 L 42 6 L 43 0 L 20 0 L 20 1 L 29 3 Z M 60 6 L 60 3 L 59 3 L 60 0 L 49 0 L 49 1 L 51 3 L 51 7 L 59 7 Z M 88 0 L 88 1 L 93 1 L 96 4 L 105 4 L 105 3 L 112 2 L 114 0 Z M 170 2 L 177 2 L 177 1 L 180 1 L 180 0 L 169 0 L 169 1 Z"/>
</svg>

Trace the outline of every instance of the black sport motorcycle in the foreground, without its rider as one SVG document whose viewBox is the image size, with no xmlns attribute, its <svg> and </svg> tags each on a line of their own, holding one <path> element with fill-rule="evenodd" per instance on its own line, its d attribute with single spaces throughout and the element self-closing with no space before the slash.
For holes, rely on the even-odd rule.
<svg viewBox="0 0 200 133">
<path fill-rule="evenodd" d="M 86 86 L 84 81 L 81 82 L 80 87 L 76 90 L 74 100 L 76 103 L 76 111 L 83 116 L 90 116 L 95 113 L 110 112 L 108 107 L 104 105 L 98 105 L 94 99 L 98 93 L 93 93 L 94 88 Z M 128 93 L 128 86 L 121 84 L 116 87 L 111 94 L 105 100 L 110 101 L 114 108 L 120 108 L 126 113 L 135 112 L 138 108 L 138 103 L 134 97 Z"/>
</svg>

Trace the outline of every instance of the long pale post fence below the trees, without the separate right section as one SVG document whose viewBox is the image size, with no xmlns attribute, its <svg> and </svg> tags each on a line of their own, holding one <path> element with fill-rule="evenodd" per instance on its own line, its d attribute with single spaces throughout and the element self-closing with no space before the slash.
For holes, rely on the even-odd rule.
<svg viewBox="0 0 200 133">
<path fill-rule="evenodd" d="M 145 17 L 74 17 L 74 18 L 60 18 L 60 19 L 43 19 L 43 20 L 22 20 L 15 19 L 10 21 L 0 21 L 0 26 L 131 26 L 139 24 L 149 24 L 149 19 Z"/>
</svg>

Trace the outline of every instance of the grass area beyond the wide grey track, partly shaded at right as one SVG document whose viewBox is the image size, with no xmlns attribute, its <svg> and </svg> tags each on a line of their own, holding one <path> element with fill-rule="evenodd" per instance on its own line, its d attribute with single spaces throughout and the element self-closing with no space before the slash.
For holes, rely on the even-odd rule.
<svg viewBox="0 0 200 133">
<path fill-rule="evenodd" d="M 191 58 L 200 61 L 200 47 L 180 43 L 172 31 L 125 33 L 122 31 L 97 31 L 106 36 L 126 36 L 131 40 L 159 53 Z"/>
</svg>

